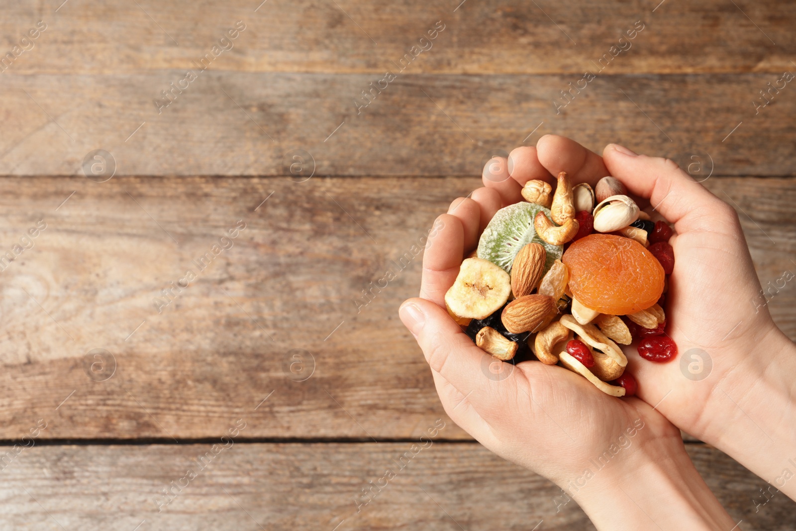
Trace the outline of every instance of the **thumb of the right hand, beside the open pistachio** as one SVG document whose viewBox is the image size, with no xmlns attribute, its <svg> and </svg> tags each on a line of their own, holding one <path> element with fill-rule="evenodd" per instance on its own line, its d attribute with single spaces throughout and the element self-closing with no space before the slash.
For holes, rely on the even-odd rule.
<svg viewBox="0 0 796 531">
<path fill-rule="evenodd" d="M 674 224 L 686 216 L 701 217 L 706 209 L 729 209 L 668 158 L 638 155 L 616 144 L 608 144 L 603 156 L 611 175 L 631 193 L 649 198 L 650 205 Z"/>
</svg>

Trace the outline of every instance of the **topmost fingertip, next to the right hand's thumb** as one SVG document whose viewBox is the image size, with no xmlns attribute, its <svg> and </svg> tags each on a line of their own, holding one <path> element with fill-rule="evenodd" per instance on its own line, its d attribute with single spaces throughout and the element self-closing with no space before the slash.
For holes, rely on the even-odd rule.
<svg viewBox="0 0 796 531">
<path fill-rule="evenodd" d="M 544 135 L 537 143 L 537 157 L 550 174 L 567 172 L 572 184 L 587 182 L 594 186 L 609 175 L 602 157 L 565 136 Z"/>
</svg>

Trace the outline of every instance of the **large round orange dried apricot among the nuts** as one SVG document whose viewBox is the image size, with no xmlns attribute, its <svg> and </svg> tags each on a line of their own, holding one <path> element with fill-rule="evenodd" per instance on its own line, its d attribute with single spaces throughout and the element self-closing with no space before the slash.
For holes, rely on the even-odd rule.
<svg viewBox="0 0 796 531">
<path fill-rule="evenodd" d="M 585 236 L 572 242 L 561 260 L 569 269 L 572 295 L 602 314 L 646 310 L 663 293 L 661 264 L 642 244 L 624 236 Z"/>
</svg>

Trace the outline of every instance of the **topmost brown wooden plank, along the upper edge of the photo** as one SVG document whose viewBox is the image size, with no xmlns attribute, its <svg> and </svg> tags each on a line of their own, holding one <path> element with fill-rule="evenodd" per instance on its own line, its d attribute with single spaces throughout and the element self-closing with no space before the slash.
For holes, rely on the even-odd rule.
<svg viewBox="0 0 796 531">
<path fill-rule="evenodd" d="M 25 74 L 192 68 L 239 20 L 246 29 L 212 68 L 383 74 L 412 45 L 427 48 L 412 61 L 415 73 L 582 74 L 611 46 L 626 49 L 613 52 L 613 73 L 793 68 L 796 8 L 787 2 L 460 2 L 19 3 L 4 10 L 0 33 L 5 53 L 37 21 L 47 25 L 8 68 Z M 428 49 L 419 39 L 437 21 L 444 29 Z M 643 29 L 619 41 L 634 27 Z"/>
</svg>

